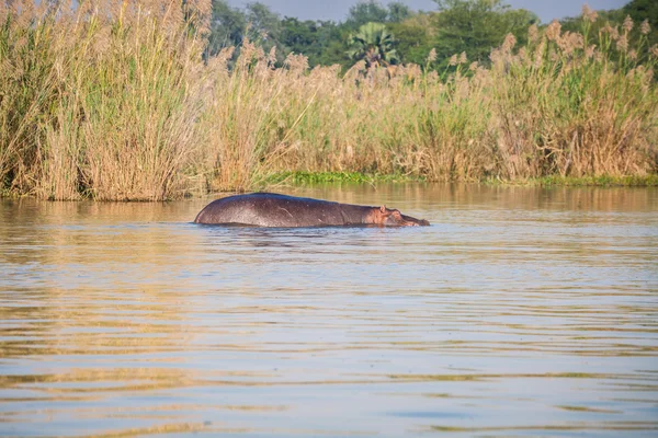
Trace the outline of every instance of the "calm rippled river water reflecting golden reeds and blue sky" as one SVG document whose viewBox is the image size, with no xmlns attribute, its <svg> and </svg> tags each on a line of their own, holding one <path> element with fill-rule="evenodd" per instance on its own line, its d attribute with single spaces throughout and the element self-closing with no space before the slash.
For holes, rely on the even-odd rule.
<svg viewBox="0 0 658 438">
<path fill-rule="evenodd" d="M 2 436 L 658 436 L 658 189 L 286 189 L 428 228 L 0 200 Z"/>
</svg>

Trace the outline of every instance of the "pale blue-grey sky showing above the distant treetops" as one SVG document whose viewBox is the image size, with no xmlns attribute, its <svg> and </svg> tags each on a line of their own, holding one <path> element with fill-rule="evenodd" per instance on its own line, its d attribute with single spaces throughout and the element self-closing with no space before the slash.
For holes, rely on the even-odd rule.
<svg viewBox="0 0 658 438">
<path fill-rule="evenodd" d="M 256 0 L 229 0 L 234 7 L 243 7 Z M 295 16 L 302 20 L 333 20 L 343 21 L 350 7 L 358 0 L 258 0 L 270 7 L 282 16 Z M 434 11 L 436 3 L 432 0 L 400 0 L 411 9 L 418 11 Z M 388 0 L 379 0 L 387 4 Z M 592 9 L 619 9 L 628 0 L 507 0 L 512 8 L 523 8 L 536 13 L 542 23 L 553 19 L 576 16 L 580 14 L 583 3 Z"/>
</svg>

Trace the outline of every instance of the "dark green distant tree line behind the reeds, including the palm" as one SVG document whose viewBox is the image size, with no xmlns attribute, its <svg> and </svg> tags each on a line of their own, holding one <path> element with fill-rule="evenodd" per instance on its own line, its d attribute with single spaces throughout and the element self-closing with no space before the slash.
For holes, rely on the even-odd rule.
<svg viewBox="0 0 658 438">
<path fill-rule="evenodd" d="M 489 64 L 489 54 L 512 33 L 519 45 L 525 44 L 527 28 L 538 23 L 535 14 L 512 9 L 504 0 L 434 0 L 436 11 L 413 12 L 402 1 L 387 5 L 364 0 L 353 5 L 344 22 L 302 21 L 281 19 L 260 2 L 249 3 L 243 10 L 231 8 L 227 0 L 213 0 L 213 19 L 208 54 L 223 47 L 239 46 L 242 39 L 269 50 L 276 46 L 277 59 L 290 53 L 308 57 L 309 65 L 340 64 L 350 67 L 355 60 L 371 64 L 427 65 L 428 55 L 436 51 L 431 68 L 444 70 L 453 55 L 465 53 L 469 61 Z M 624 8 L 598 11 L 599 20 L 591 24 L 590 35 L 609 22 L 620 24 L 629 15 L 635 26 L 632 39 L 640 36 L 643 21 L 651 32 L 645 44 L 658 44 L 658 2 L 633 0 Z M 566 19 L 564 31 L 580 32 L 582 18 Z M 367 25 L 367 27 L 363 27 Z M 247 31 L 249 26 L 249 31 Z M 645 25 L 646 28 L 646 25 Z M 646 46 L 645 46 L 646 47 Z"/>
</svg>

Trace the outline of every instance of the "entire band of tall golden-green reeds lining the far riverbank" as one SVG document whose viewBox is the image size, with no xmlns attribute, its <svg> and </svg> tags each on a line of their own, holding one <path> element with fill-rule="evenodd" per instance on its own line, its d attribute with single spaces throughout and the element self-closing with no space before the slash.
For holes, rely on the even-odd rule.
<svg viewBox="0 0 658 438">
<path fill-rule="evenodd" d="M 50 199 L 159 200 L 275 172 L 430 181 L 658 172 L 658 48 L 628 20 L 347 72 L 246 42 L 203 59 L 209 2 L 0 2 L 0 184 Z M 639 35 L 629 47 L 632 32 Z M 434 55 L 430 54 L 429 61 Z M 643 59 L 643 64 L 638 64 Z"/>
</svg>

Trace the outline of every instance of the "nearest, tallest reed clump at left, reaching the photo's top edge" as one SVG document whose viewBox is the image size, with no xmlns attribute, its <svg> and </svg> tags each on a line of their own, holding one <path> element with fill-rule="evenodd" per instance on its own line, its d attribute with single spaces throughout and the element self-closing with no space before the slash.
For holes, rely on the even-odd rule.
<svg viewBox="0 0 658 438">
<path fill-rule="evenodd" d="M 203 9 L 24 1 L 0 11 L 5 189 L 157 200 L 185 188 L 200 146 Z"/>
</svg>

